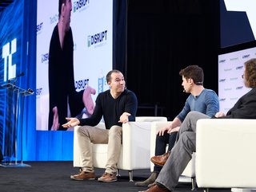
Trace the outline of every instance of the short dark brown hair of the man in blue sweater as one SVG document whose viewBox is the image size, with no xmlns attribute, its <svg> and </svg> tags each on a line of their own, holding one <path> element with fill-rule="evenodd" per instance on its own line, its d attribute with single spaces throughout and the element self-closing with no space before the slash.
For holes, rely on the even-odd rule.
<svg viewBox="0 0 256 192">
<path fill-rule="evenodd" d="M 182 69 L 179 72 L 180 76 L 184 76 L 186 80 L 194 80 L 194 84 L 202 85 L 203 84 L 203 70 L 198 65 L 189 65 L 185 69 Z"/>
</svg>

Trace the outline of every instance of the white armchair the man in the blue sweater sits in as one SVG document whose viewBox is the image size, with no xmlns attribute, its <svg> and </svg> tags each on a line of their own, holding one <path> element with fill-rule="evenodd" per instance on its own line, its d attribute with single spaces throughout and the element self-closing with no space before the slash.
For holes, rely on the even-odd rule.
<svg viewBox="0 0 256 192">
<path fill-rule="evenodd" d="M 155 139 L 156 131 L 162 127 L 168 127 L 171 121 L 167 122 L 153 122 L 151 124 L 151 139 L 150 139 L 150 156 L 154 156 L 155 151 Z M 168 146 L 166 147 L 167 151 Z M 151 172 L 154 170 L 154 163 L 150 163 Z M 188 179 L 189 178 L 189 179 Z M 182 176 L 179 178 L 179 182 L 192 182 L 192 190 L 195 190 L 195 153 L 192 155 L 190 163 L 186 166 L 186 169 L 182 172 Z"/>
</svg>

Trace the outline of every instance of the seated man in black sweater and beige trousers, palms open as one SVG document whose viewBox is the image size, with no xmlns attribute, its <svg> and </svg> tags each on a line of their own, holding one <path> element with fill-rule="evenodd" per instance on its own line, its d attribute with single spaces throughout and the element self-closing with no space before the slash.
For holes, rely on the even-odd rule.
<svg viewBox="0 0 256 192">
<path fill-rule="evenodd" d="M 82 168 L 78 174 L 71 175 L 74 180 L 95 179 L 92 150 L 90 143 L 108 143 L 108 159 L 106 171 L 100 182 L 117 181 L 117 164 L 122 143 L 122 123 L 134 121 L 138 101 L 130 90 L 126 89 L 126 82 L 122 72 L 112 70 L 106 75 L 110 90 L 101 92 L 96 99 L 92 116 L 86 119 L 66 118 L 69 122 L 63 127 L 78 127 L 78 147 L 81 151 Z M 106 130 L 96 126 L 102 116 L 105 120 Z"/>
</svg>

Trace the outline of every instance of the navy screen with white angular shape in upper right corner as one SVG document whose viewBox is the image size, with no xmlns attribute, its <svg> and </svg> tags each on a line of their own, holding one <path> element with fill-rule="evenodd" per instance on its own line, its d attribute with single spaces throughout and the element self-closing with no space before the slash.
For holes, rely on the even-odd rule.
<svg viewBox="0 0 256 192">
<path fill-rule="evenodd" d="M 221 47 L 255 41 L 256 1 L 221 0 Z"/>
</svg>

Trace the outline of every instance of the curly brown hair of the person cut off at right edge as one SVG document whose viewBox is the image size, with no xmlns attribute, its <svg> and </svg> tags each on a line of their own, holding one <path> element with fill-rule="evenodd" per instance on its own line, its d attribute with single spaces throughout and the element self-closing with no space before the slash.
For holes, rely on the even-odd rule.
<svg viewBox="0 0 256 192">
<path fill-rule="evenodd" d="M 252 58 L 245 62 L 245 80 L 248 88 L 256 88 L 256 59 Z"/>
</svg>

